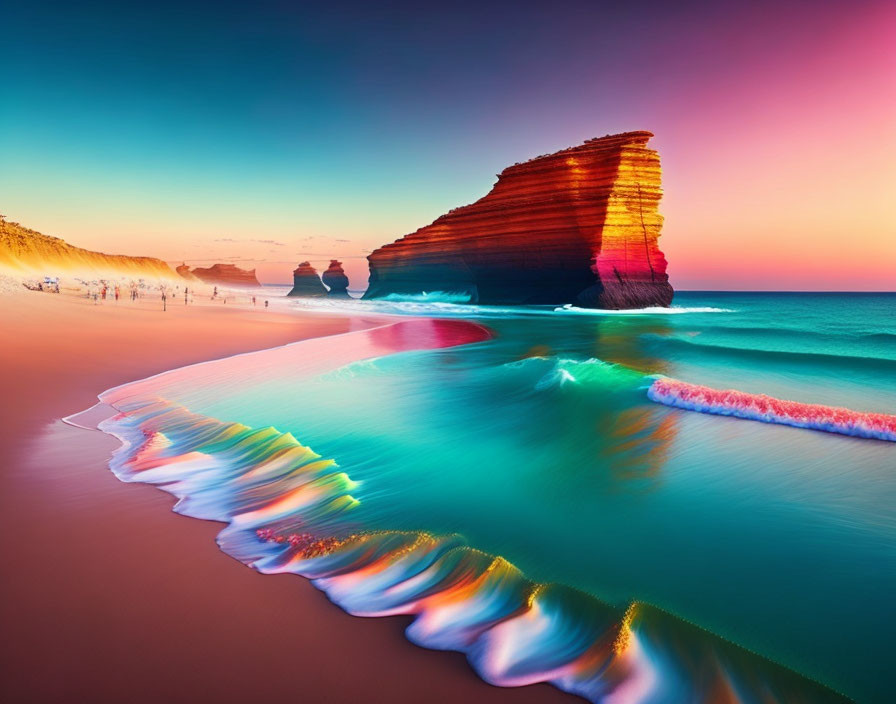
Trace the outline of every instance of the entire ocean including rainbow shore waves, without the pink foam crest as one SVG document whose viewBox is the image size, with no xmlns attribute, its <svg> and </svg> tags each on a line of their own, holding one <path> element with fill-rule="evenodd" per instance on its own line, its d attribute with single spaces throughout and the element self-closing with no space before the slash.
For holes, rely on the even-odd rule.
<svg viewBox="0 0 896 704">
<path fill-rule="evenodd" d="M 388 317 L 106 392 L 119 477 L 228 521 L 222 548 L 261 571 L 415 615 L 409 638 L 496 684 L 889 700 L 896 444 L 648 391 L 896 413 L 896 294 L 288 305 Z"/>
</svg>

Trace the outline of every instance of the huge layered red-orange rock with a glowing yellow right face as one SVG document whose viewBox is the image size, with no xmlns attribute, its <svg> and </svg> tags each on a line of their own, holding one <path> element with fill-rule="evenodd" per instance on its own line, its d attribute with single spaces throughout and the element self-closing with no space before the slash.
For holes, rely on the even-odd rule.
<svg viewBox="0 0 896 704">
<path fill-rule="evenodd" d="M 424 291 L 483 304 L 668 306 L 650 132 L 508 167 L 484 198 L 375 250 L 364 298 Z"/>
</svg>

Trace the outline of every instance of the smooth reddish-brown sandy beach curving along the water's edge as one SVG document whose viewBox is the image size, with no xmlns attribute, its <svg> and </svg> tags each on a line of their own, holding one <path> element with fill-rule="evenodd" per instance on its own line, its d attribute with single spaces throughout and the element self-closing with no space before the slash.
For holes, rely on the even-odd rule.
<svg viewBox="0 0 896 704">
<path fill-rule="evenodd" d="M 310 584 L 218 551 L 219 525 L 118 482 L 112 438 L 58 419 L 100 391 L 206 359 L 375 324 L 272 306 L 4 297 L 0 699 L 10 702 L 551 702 L 479 681 L 348 616 Z"/>
</svg>

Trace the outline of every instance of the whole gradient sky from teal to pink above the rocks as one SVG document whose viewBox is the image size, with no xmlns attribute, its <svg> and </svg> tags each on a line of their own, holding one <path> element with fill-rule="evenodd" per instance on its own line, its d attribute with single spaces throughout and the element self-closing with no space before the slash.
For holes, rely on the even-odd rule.
<svg viewBox="0 0 896 704">
<path fill-rule="evenodd" d="M 129 5 L 4 4 L 7 219 L 362 289 L 506 166 L 646 129 L 676 288 L 896 290 L 896 3 Z"/>
</svg>

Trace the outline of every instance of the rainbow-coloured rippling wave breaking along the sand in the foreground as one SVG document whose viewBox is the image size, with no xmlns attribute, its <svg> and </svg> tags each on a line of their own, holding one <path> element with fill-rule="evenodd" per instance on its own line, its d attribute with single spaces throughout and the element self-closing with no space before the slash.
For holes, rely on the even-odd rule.
<svg viewBox="0 0 896 704">
<path fill-rule="evenodd" d="M 353 518 L 357 485 L 289 433 L 158 398 L 112 401 L 119 413 L 100 428 L 122 443 L 110 462 L 119 479 L 227 523 L 221 549 L 259 572 L 306 577 L 357 616 L 412 616 L 411 641 L 465 653 L 492 684 L 550 682 L 607 703 L 844 701 L 650 605 L 530 581 L 460 535 L 367 532 Z"/>
</svg>

